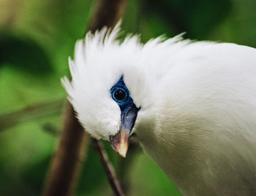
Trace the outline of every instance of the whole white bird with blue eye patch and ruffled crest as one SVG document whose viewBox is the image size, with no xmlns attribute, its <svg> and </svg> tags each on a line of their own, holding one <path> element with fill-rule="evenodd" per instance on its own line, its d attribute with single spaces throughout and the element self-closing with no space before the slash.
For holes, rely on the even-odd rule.
<svg viewBox="0 0 256 196">
<path fill-rule="evenodd" d="M 119 32 L 86 34 L 62 79 L 86 131 L 123 157 L 135 138 L 181 195 L 256 195 L 256 50 Z"/>
</svg>

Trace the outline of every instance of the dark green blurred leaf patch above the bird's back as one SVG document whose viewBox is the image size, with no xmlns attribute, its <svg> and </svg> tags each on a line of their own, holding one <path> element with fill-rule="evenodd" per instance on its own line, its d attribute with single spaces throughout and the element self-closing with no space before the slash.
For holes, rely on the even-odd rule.
<svg viewBox="0 0 256 196">
<path fill-rule="evenodd" d="M 168 36 L 187 32 L 190 39 L 202 39 L 224 20 L 232 8 L 230 0 L 143 0 L 143 17 L 161 21 L 150 28 Z M 143 20 L 144 21 L 144 20 Z M 166 27 L 167 28 L 166 28 Z M 164 30 L 164 31 L 163 31 Z M 161 30 L 160 30 L 161 31 Z"/>
</svg>

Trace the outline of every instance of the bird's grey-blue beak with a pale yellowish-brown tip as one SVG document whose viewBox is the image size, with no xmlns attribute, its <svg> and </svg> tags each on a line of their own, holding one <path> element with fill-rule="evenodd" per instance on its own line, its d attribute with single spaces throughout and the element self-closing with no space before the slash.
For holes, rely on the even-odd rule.
<svg viewBox="0 0 256 196">
<path fill-rule="evenodd" d="M 135 104 L 121 114 L 121 126 L 115 136 L 110 136 L 110 144 L 114 151 L 122 157 L 126 157 L 129 146 L 129 135 L 135 125 L 135 120 L 138 114 L 138 108 Z"/>
</svg>

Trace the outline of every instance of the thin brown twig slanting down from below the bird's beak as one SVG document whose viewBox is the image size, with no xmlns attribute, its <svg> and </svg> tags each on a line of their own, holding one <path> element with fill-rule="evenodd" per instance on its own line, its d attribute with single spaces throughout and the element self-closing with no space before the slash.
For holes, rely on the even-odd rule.
<svg viewBox="0 0 256 196">
<path fill-rule="evenodd" d="M 106 154 L 102 142 L 94 138 L 92 138 L 92 142 L 94 144 L 94 149 L 98 153 L 99 159 L 102 162 L 105 173 L 107 174 L 110 187 L 113 189 L 113 192 L 116 196 L 124 196 L 124 192 L 121 189 L 121 185 L 118 179 L 116 178 L 116 172 L 113 168 L 113 165 L 108 160 L 108 154 Z"/>
</svg>

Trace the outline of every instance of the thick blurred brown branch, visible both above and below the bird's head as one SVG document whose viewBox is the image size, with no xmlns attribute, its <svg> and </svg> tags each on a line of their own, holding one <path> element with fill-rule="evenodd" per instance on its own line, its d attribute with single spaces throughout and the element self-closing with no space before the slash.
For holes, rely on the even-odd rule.
<svg viewBox="0 0 256 196">
<path fill-rule="evenodd" d="M 126 0 L 99 0 L 89 30 L 94 32 L 103 26 L 115 26 L 124 12 L 125 4 Z M 72 195 L 86 153 L 88 138 L 68 103 L 58 151 L 53 157 L 42 195 Z"/>
</svg>

